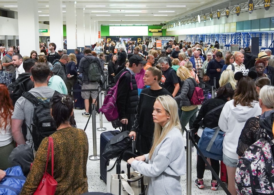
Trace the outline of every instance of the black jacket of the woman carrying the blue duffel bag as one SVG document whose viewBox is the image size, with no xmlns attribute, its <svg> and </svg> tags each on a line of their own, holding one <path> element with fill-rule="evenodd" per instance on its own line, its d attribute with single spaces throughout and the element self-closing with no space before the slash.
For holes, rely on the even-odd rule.
<svg viewBox="0 0 274 195">
<path fill-rule="evenodd" d="M 222 104 L 225 104 L 226 102 L 227 102 L 227 100 L 224 100 L 222 98 L 207 99 L 204 102 L 204 104 L 202 105 L 202 107 L 200 108 L 199 114 L 196 117 L 195 121 L 193 122 L 192 128 L 194 128 L 196 130 L 196 132 L 198 132 L 198 129 L 200 127 L 200 125 L 198 123 L 201 122 L 202 120 L 203 120 L 203 124 L 205 125 L 205 127 L 208 127 L 208 128 L 217 127 L 223 108 L 219 108 L 218 110 L 211 112 L 205 118 L 204 118 L 204 116 L 206 115 L 206 113 L 208 111 L 210 111 Z"/>
</svg>

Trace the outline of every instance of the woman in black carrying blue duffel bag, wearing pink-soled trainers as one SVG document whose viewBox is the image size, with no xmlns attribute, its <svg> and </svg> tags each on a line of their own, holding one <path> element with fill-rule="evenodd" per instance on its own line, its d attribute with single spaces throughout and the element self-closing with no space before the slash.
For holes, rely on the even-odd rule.
<svg viewBox="0 0 274 195">
<path fill-rule="evenodd" d="M 200 108 L 199 114 L 196 117 L 195 121 L 193 122 L 193 126 L 192 126 L 192 128 L 195 129 L 196 134 L 197 134 L 197 137 L 196 137 L 197 144 L 200 140 L 200 137 L 202 136 L 202 131 L 203 131 L 201 128 L 200 128 L 200 130 L 198 130 L 199 127 L 200 126 L 203 126 L 204 128 L 205 127 L 207 127 L 207 128 L 217 127 L 219 117 L 221 115 L 221 111 L 222 111 L 223 107 L 206 115 L 207 112 L 209 112 L 210 110 L 212 110 L 214 108 L 217 108 L 220 105 L 224 106 L 224 104 L 233 97 L 233 94 L 234 94 L 233 89 L 229 89 L 229 88 L 226 88 L 225 86 L 223 86 L 223 87 L 219 88 L 216 98 L 207 99 L 206 102 L 204 102 L 204 104 Z M 211 162 L 211 166 L 214 169 L 214 171 L 217 173 L 217 175 L 219 175 L 219 172 L 220 172 L 219 161 L 210 159 L 210 162 Z M 195 181 L 195 185 L 198 186 L 198 188 L 204 188 L 203 177 L 204 177 L 205 168 L 206 168 L 205 162 L 203 161 L 202 157 L 200 155 L 198 155 L 197 166 L 196 166 L 197 179 Z M 211 189 L 212 190 L 217 190 L 218 185 L 216 185 L 216 183 L 217 183 L 217 180 L 212 174 L 212 180 L 211 180 Z"/>
</svg>

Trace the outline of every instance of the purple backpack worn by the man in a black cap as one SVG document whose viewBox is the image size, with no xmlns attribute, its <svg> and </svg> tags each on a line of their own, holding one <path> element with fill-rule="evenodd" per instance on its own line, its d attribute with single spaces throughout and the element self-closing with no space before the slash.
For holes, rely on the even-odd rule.
<svg viewBox="0 0 274 195">
<path fill-rule="evenodd" d="M 117 93 L 118 93 L 118 84 L 119 84 L 120 78 L 127 72 L 128 71 L 123 72 L 121 74 L 121 76 L 119 77 L 116 85 L 109 89 L 108 94 L 106 95 L 106 97 L 104 99 L 102 108 L 99 109 L 99 112 L 102 112 L 105 115 L 106 120 L 108 120 L 109 122 L 114 121 L 117 118 L 119 118 L 118 108 L 117 108 L 117 104 L 116 104 Z M 128 72 L 128 73 L 130 73 L 130 72 Z M 130 87 L 131 87 L 131 90 L 133 90 L 131 77 L 130 77 Z"/>
</svg>

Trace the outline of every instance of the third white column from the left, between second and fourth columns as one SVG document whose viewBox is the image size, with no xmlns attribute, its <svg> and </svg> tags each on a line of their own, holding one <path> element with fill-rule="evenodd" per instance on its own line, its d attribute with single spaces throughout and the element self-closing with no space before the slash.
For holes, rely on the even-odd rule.
<svg viewBox="0 0 274 195">
<path fill-rule="evenodd" d="M 66 3 L 67 49 L 76 48 L 76 9 L 74 2 Z"/>
</svg>

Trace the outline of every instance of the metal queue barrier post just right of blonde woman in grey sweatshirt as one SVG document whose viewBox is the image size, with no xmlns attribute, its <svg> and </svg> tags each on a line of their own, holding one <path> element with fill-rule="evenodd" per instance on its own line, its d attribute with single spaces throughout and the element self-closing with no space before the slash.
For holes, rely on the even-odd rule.
<svg viewBox="0 0 274 195">
<path fill-rule="evenodd" d="M 192 154 L 192 148 L 191 148 L 191 130 L 186 130 L 186 195 L 191 195 L 191 154 Z"/>
</svg>

